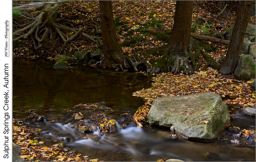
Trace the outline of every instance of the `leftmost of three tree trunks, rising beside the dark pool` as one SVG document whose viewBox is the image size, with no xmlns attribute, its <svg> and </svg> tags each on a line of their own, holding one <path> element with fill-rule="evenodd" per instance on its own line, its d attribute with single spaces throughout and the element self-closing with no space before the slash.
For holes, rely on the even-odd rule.
<svg viewBox="0 0 256 162">
<path fill-rule="evenodd" d="M 99 1 L 101 33 L 104 50 L 104 60 L 107 67 L 115 67 L 122 63 L 124 58 L 116 38 L 111 1 Z"/>
</svg>

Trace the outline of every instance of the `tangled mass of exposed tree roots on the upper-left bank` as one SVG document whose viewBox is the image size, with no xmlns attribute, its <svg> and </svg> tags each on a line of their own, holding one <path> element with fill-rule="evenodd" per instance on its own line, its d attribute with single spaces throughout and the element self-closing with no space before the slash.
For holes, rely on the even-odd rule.
<svg viewBox="0 0 256 162">
<path fill-rule="evenodd" d="M 82 35 L 97 43 L 102 48 L 99 36 L 91 36 L 86 34 L 86 28 L 74 29 L 71 27 L 59 25 L 55 22 L 57 11 L 60 4 L 65 1 L 55 2 L 35 2 L 22 6 L 13 7 L 15 10 L 33 10 L 30 14 L 38 14 L 28 24 L 20 25 L 23 27 L 13 32 L 13 40 L 31 37 L 36 50 L 40 49 L 49 39 L 53 40 L 58 35 L 65 44 L 71 42 L 78 36 Z M 36 11 L 34 11 L 36 10 Z M 23 15 L 24 17 L 33 17 L 32 15 Z M 18 23 L 17 23 L 18 24 Z M 96 29 L 97 30 L 97 29 Z M 67 32 L 73 32 L 72 36 L 68 36 Z"/>
</svg>

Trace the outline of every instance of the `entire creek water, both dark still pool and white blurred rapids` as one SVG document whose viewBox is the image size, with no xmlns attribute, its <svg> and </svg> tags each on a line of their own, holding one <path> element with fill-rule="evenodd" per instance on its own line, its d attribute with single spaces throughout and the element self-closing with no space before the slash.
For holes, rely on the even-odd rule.
<svg viewBox="0 0 256 162">
<path fill-rule="evenodd" d="M 144 103 L 141 98 L 133 97 L 132 92 L 149 87 L 151 78 L 88 66 L 64 70 L 54 70 L 52 66 L 53 62 L 49 61 L 13 61 L 13 118 L 26 118 L 28 111 L 44 115 L 46 121 L 31 126 L 47 132 L 41 138 L 50 144 L 63 141 L 83 155 L 105 161 L 156 161 L 158 158 L 255 161 L 255 142 L 246 141 L 240 147 L 230 142 L 235 137 L 228 131 L 223 131 L 227 139 L 211 143 L 172 140 L 169 129 L 139 128 L 132 124 L 126 128 L 119 125 L 113 133 L 99 133 L 97 128 L 92 133 L 81 133 L 69 122 L 69 111 L 75 105 L 101 103 L 114 110 L 113 119 L 118 116 L 121 120 L 122 114 L 126 114 L 126 120 L 132 123 L 133 113 Z M 231 113 L 236 116 L 232 120 L 234 126 L 255 130 L 255 118 L 246 117 L 236 108 Z M 67 138 L 69 142 L 65 141 Z"/>
</svg>

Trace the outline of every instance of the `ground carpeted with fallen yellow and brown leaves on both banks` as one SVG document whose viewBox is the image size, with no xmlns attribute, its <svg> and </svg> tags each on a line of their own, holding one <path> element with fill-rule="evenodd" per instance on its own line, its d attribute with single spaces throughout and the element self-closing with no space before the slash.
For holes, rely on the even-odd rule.
<svg viewBox="0 0 256 162">
<path fill-rule="evenodd" d="M 20 2 L 25 3 L 25 2 Z M 225 32 L 236 19 L 236 6 L 238 2 L 232 2 L 234 7 L 227 8 L 221 13 L 222 9 L 217 2 L 212 1 L 195 1 L 193 22 L 197 21 L 196 30 L 194 34 L 215 34 Z M 175 15 L 175 2 L 173 1 L 113 1 L 114 18 L 119 16 L 120 22 L 125 22 L 125 26 L 119 26 L 118 30 L 122 32 L 117 33 L 119 43 L 126 40 L 136 39 L 142 35 L 140 32 L 128 35 L 130 30 L 136 30 L 143 26 L 146 22 L 151 20 L 151 13 L 161 22 L 162 28 L 150 27 L 150 30 L 155 32 L 163 32 L 171 30 L 173 27 Z M 99 6 L 97 1 L 70 1 L 63 3 L 58 11 L 59 22 L 65 22 L 67 26 L 74 28 L 81 28 L 84 24 L 97 26 L 100 30 L 99 21 Z M 250 17 L 250 24 L 255 24 L 255 16 Z M 124 30 L 127 27 L 129 30 Z M 92 28 L 88 34 L 94 34 L 95 28 Z M 67 33 L 69 34 L 69 33 Z M 70 33 L 71 34 L 71 33 Z M 211 42 L 204 42 L 215 47 L 216 51 L 211 51 L 208 54 L 215 60 L 220 61 L 225 57 L 227 48 L 223 44 L 214 44 Z M 134 51 L 143 49 L 148 51 L 154 48 L 160 48 L 166 45 L 166 41 L 157 40 L 153 35 L 146 35 L 143 40 L 136 42 L 135 45 L 123 46 L 123 54 L 127 56 L 134 55 Z M 31 59 L 39 57 L 43 59 L 55 60 L 55 57 L 60 51 L 65 52 L 69 56 L 73 56 L 75 51 L 83 51 L 88 48 L 89 51 L 97 47 L 97 44 L 87 38 L 78 37 L 72 43 L 64 44 L 59 40 L 50 40 L 44 49 L 34 50 L 31 40 L 20 40 L 19 45 L 13 48 L 13 57 L 25 57 Z M 159 56 L 143 56 L 143 53 L 138 53 L 144 57 L 150 64 L 151 60 L 159 58 Z M 193 75 L 174 75 L 170 73 L 162 73 L 153 75 L 154 83 L 152 87 L 141 89 L 134 92 L 134 96 L 145 99 L 145 104 L 139 107 L 134 115 L 137 124 L 143 126 L 147 123 L 147 112 L 151 107 L 151 103 L 155 98 L 162 96 L 181 96 L 187 94 L 194 94 L 197 92 L 215 92 L 219 94 L 227 104 L 234 104 L 241 109 L 245 107 L 255 108 L 255 89 L 251 88 L 251 83 L 254 79 L 249 81 L 240 81 L 235 79 L 232 75 L 221 75 L 217 70 L 207 66 L 207 62 L 202 58 L 201 67 Z M 44 152 L 45 155 L 51 157 L 49 159 L 56 161 L 97 161 L 97 159 L 90 159 L 60 145 L 42 146 L 43 141 L 37 141 L 37 137 L 31 134 L 36 134 L 40 130 L 35 128 L 24 127 L 23 125 L 13 125 L 13 136 L 16 140 L 14 145 L 22 146 L 22 157 L 26 160 L 46 160 L 36 152 Z M 18 140 L 18 141 L 17 141 Z M 24 144 L 24 145 L 23 145 Z M 25 145 L 26 144 L 26 145 Z M 28 149 L 29 148 L 29 149 Z"/>
</svg>

